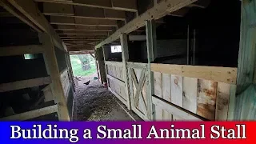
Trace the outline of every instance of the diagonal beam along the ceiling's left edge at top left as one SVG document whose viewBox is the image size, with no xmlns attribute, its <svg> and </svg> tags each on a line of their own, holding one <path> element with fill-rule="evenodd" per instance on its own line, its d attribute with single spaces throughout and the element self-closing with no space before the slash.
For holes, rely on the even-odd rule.
<svg viewBox="0 0 256 144">
<path fill-rule="evenodd" d="M 30 19 L 36 26 L 38 26 L 42 31 L 50 34 L 54 40 L 54 46 L 59 49 L 64 50 L 62 46 L 62 40 L 58 37 L 54 28 L 50 26 L 49 22 L 46 20 L 44 15 L 38 10 L 37 4 L 33 0 L 8 0 L 17 10 Z"/>
</svg>

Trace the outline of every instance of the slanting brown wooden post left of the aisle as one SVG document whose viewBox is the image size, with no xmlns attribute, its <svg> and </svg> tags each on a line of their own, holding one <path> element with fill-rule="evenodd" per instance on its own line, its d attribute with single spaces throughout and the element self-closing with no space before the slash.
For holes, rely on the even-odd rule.
<svg viewBox="0 0 256 144">
<path fill-rule="evenodd" d="M 66 106 L 66 98 L 62 88 L 61 78 L 58 70 L 58 63 L 54 51 L 54 43 L 50 35 L 39 34 L 40 42 L 45 50 L 44 59 L 46 70 L 52 80 L 51 90 L 54 94 L 54 102 L 58 104 L 58 119 L 60 121 L 70 121 L 70 116 Z"/>
</svg>

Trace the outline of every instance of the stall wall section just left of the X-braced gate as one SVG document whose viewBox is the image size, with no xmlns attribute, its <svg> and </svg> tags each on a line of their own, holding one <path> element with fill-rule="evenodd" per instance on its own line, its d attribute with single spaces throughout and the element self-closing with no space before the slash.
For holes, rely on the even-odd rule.
<svg viewBox="0 0 256 144">
<path fill-rule="evenodd" d="M 122 62 L 106 61 L 106 77 L 109 90 L 125 105 L 127 105 L 127 95 L 123 75 Z"/>
</svg>

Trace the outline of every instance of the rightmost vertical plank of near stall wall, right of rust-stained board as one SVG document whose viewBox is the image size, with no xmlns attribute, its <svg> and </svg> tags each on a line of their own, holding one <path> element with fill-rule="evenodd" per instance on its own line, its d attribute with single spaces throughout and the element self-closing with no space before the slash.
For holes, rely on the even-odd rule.
<svg viewBox="0 0 256 144">
<path fill-rule="evenodd" d="M 215 119 L 226 121 L 230 103 L 230 85 L 218 82 Z"/>
</svg>

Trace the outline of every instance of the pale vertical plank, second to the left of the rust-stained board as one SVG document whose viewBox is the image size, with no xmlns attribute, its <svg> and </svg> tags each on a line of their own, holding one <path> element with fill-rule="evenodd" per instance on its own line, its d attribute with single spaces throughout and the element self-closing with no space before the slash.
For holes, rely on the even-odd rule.
<svg viewBox="0 0 256 144">
<path fill-rule="evenodd" d="M 174 105 L 183 107 L 183 78 L 178 75 L 171 75 L 170 91 L 171 91 L 171 102 Z"/>
</svg>

